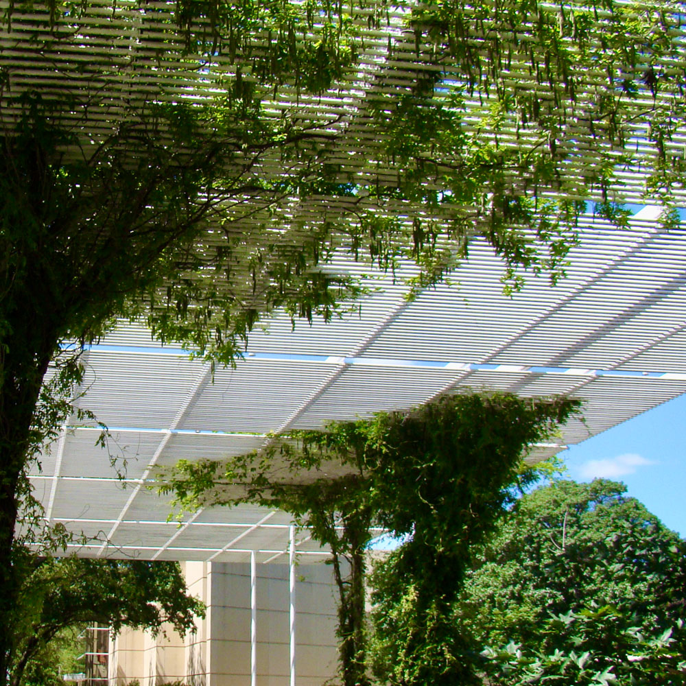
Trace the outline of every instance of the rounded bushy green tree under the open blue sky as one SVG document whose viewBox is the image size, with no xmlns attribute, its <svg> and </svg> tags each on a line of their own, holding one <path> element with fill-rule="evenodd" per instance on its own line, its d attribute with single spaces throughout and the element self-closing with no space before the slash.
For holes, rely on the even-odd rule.
<svg viewBox="0 0 686 686">
<path fill-rule="evenodd" d="M 486 543 L 456 621 L 493 646 L 494 683 L 684 683 L 686 543 L 625 493 L 539 488 Z"/>
</svg>

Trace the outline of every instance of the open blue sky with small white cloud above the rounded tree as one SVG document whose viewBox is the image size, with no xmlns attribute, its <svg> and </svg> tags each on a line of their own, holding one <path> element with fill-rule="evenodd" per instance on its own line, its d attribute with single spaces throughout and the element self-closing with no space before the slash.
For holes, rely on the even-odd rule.
<svg viewBox="0 0 686 686">
<path fill-rule="evenodd" d="M 576 481 L 622 481 L 666 526 L 686 537 L 686 395 L 560 453 Z"/>
</svg>

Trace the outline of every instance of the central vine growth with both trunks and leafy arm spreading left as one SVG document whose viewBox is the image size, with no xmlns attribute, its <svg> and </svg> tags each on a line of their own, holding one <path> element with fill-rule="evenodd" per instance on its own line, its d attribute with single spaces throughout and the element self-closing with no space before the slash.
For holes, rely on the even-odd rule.
<svg viewBox="0 0 686 686">
<path fill-rule="evenodd" d="M 464 650 L 455 649 L 454 632 L 429 636 L 429 625 L 447 626 L 471 546 L 504 513 L 508 487 L 528 480 L 519 473 L 522 453 L 577 406 L 497 393 L 445 396 L 405 412 L 275 436 L 268 449 L 228 462 L 184 460 L 161 488 L 187 509 L 241 502 L 281 508 L 330 547 L 345 686 L 370 683 L 364 587 L 371 528 L 409 536 L 372 577 L 377 665 L 385 663 L 391 683 L 455 683 L 471 676 Z M 398 622 L 394 605 L 408 593 L 412 621 Z M 431 648 L 443 656 L 434 664 Z"/>
</svg>

